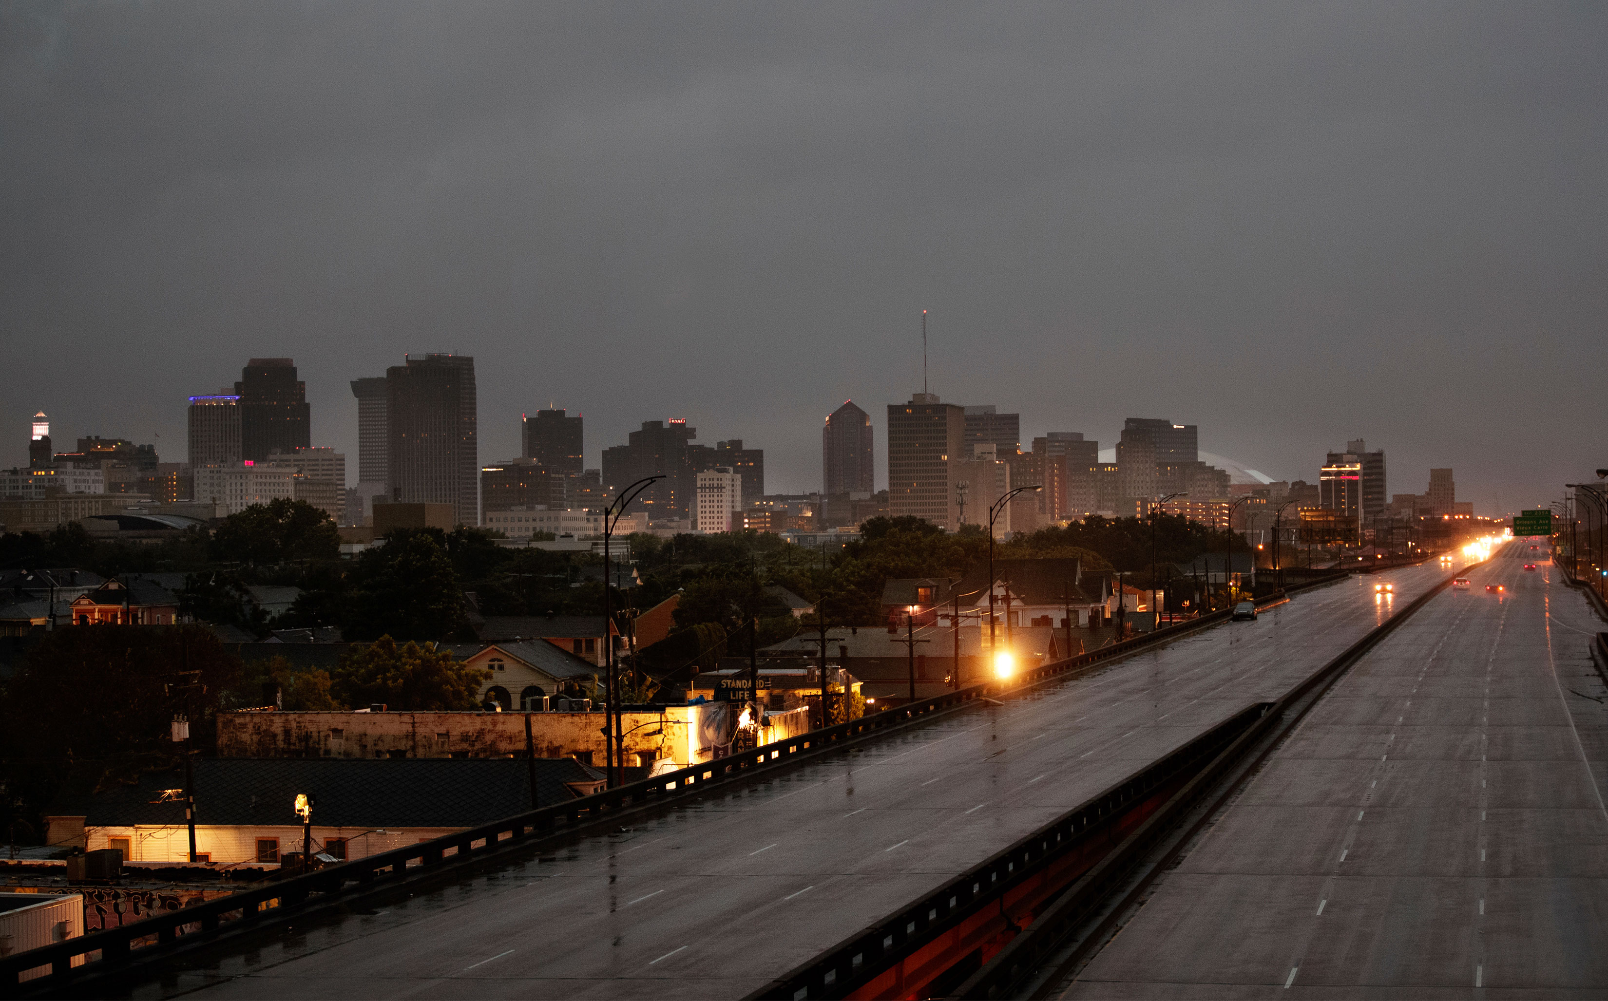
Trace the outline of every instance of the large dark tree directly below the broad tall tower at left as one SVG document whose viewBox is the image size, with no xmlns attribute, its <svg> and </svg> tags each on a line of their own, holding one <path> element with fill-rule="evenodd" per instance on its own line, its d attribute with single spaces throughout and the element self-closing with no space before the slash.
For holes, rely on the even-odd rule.
<svg viewBox="0 0 1608 1001">
<path fill-rule="evenodd" d="M 347 578 L 346 639 L 473 639 L 441 529 L 397 529 L 367 550 Z"/>
</svg>

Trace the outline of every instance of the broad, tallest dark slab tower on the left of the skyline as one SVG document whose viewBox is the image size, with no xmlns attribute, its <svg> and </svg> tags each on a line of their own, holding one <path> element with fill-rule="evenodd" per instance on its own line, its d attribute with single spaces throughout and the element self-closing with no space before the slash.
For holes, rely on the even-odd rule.
<svg viewBox="0 0 1608 1001">
<path fill-rule="evenodd" d="M 474 358 L 408 355 L 386 370 L 386 477 L 391 500 L 452 505 L 458 525 L 479 517 L 479 410 Z"/>
</svg>

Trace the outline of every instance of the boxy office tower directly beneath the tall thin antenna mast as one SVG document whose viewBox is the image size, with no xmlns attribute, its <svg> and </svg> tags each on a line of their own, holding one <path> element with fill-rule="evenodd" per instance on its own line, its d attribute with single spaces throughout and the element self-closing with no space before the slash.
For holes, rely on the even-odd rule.
<svg viewBox="0 0 1608 1001">
<path fill-rule="evenodd" d="M 965 407 L 942 403 L 929 392 L 910 394 L 909 403 L 889 403 L 888 514 L 912 514 L 955 530 L 949 463 L 966 453 Z M 971 521 L 970 501 L 966 521 Z"/>
</svg>

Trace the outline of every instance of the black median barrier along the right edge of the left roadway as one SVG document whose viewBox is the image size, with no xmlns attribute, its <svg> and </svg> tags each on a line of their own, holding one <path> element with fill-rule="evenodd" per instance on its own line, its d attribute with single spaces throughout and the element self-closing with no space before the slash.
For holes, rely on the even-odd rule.
<svg viewBox="0 0 1608 1001">
<path fill-rule="evenodd" d="M 1169 782 L 1179 779 L 1180 774 L 1190 774 L 1203 763 L 1217 758 L 1222 749 L 1261 720 L 1270 705 L 1270 702 L 1259 702 L 1238 712 L 1008 848 L 955 876 L 902 911 L 854 932 L 815 959 L 788 970 L 748 995 L 748 1001 L 846 998 L 878 980 L 886 970 L 923 946 L 949 935 L 968 917 L 994 908 L 995 901 L 1000 917 L 1008 921 L 1005 917 L 1007 897 L 1013 889 L 1029 884 L 1074 853 L 1090 847 L 1097 848 L 1098 853 L 1100 842 L 1121 840 L 1124 818 Z M 1068 880 L 1074 877 L 1076 874 L 1068 874 Z M 1053 887 L 1048 890 L 1053 892 Z M 970 938 L 966 945 L 971 945 Z M 905 996 L 912 990 L 910 982 L 897 987 L 899 996 Z M 883 990 L 873 990 L 872 996 L 888 995 Z"/>
</svg>

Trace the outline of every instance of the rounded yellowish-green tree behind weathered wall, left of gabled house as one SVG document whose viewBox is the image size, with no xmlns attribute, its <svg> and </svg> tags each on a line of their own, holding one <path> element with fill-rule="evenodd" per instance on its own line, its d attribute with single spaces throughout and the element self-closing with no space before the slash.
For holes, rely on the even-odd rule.
<svg viewBox="0 0 1608 1001">
<path fill-rule="evenodd" d="M 391 636 L 347 651 L 331 676 L 331 696 L 346 705 L 383 702 L 404 712 L 453 712 L 479 705 L 490 672 L 455 660 L 433 643 L 397 646 Z"/>
</svg>

